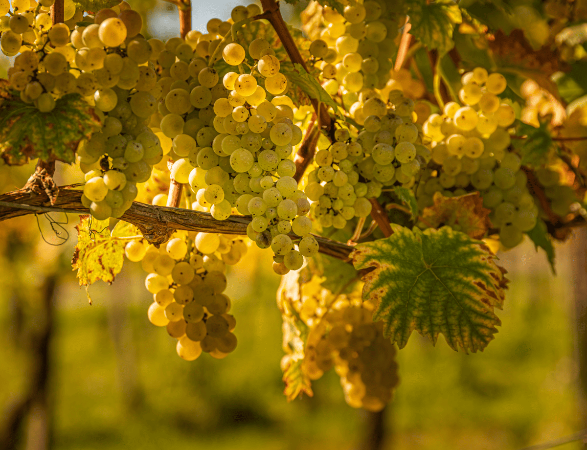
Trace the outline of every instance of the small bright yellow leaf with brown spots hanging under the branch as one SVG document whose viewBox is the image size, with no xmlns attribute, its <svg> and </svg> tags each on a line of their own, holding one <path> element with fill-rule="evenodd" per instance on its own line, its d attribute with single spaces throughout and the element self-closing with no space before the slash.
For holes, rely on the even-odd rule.
<svg viewBox="0 0 587 450">
<path fill-rule="evenodd" d="M 80 218 L 76 225 L 77 245 L 72 259 L 79 285 L 89 286 L 97 280 L 112 285 L 114 277 L 122 270 L 126 241 L 110 236 L 108 220 L 96 221 L 88 215 Z"/>
</svg>

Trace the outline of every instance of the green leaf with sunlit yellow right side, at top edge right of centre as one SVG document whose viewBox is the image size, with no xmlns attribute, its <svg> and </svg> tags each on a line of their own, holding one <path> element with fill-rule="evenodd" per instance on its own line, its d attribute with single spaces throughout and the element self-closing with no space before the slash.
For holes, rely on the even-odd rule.
<svg viewBox="0 0 587 450">
<path fill-rule="evenodd" d="M 463 18 L 453 0 L 410 0 L 407 2 L 412 24 L 410 34 L 420 40 L 429 50 L 438 49 L 443 55 L 454 46 L 453 31 Z"/>
</svg>

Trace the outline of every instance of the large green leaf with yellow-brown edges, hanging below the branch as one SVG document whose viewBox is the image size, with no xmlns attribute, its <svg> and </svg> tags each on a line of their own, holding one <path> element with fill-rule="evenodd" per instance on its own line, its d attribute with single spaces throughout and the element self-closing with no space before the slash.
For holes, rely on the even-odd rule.
<svg viewBox="0 0 587 450">
<path fill-rule="evenodd" d="M 374 320 L 400 349 L 413 330 L 436 344 L 442 333 L 453 350 L 483 350 L 501 325 L 507 282 L 483 242 L 449 226 L 420 231 L 392 224 L 389 238 L 357 245 L 363 299 L 377 305 Z"/>
</svg>

